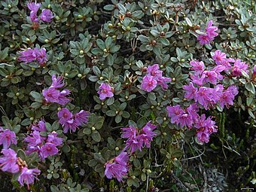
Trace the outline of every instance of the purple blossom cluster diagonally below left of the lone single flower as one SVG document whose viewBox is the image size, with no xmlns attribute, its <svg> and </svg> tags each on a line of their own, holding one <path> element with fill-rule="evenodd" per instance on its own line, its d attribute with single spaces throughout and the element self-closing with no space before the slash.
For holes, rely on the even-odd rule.
<svg viewBox="0 0 256 192">
<path fill-rule="evenodd" d="M 59 123 L 63 126 L 63 133 L 68 133 L 68 131 L 75 132 L 78 126 L 88 122 L 89 116 L 90 112 L 84 110 L 81 110 L 74 115 L 67 108 L 62 108 L 58 112 Z"/>
</svg>

